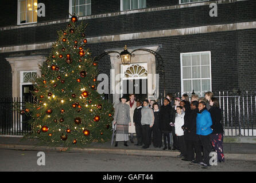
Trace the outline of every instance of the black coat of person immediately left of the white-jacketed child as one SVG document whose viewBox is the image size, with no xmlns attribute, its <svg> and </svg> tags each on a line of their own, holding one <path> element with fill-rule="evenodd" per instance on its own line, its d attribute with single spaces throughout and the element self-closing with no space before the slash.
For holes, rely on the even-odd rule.
<svg viewBox="0 0 256 183">
<path fill-rule="evenodd" d="M 161 132 L 172 132 L 170 122 L 173 122 L 173 110 L 170 105 L 162 105 L 160 110 L 160 130 Z"/>
</svg>

